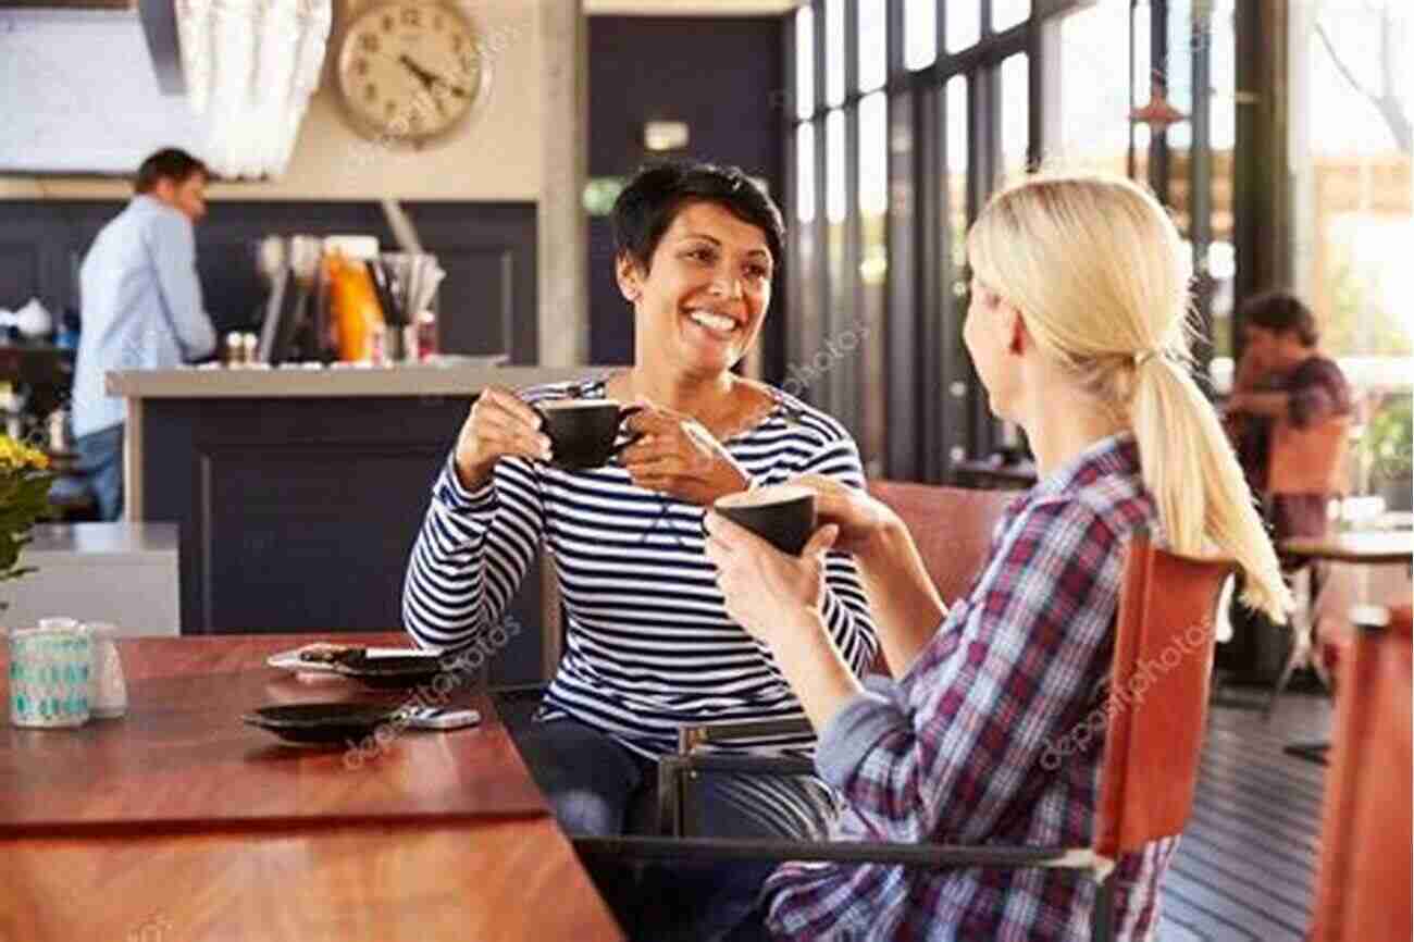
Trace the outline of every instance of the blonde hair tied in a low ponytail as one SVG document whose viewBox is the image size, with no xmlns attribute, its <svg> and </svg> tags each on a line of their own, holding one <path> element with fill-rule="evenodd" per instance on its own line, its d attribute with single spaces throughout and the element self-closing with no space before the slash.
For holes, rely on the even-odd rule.
<svg viewBox="0 0 1414 942">
<path fill-rule="evenodd" d="M 1158 201 L 1123 177 L 1029 177 L 991 198 L 967 250 L 1036 344 L 1130 424 L 1174 552 L 1236 560 L 1243 601 L 1285 621 L 1275 549 L 1191 375 L 1188 249 Z"/>
</svg>

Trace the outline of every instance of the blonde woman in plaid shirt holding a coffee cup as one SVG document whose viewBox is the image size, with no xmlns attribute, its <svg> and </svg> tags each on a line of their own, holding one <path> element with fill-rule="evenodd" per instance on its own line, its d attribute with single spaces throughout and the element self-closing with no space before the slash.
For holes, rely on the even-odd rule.
<svg viewBox="0 0 1414 942">
<path fill-rule="evenodd" d="M 1188 368 L 1186 250 L 1127 180 L 1036 177 L 991 199 L 967 242 L 963 337 L 991 410 L 1019 423 L 1041 481 L 1001 521 L 950 610 L 908 530 L 864 494 L 814 479 L 824 526 L 785 557 L 711 515 L 727 610 L 771 649 L 843 795 L 844 839 L 1083 846 L 1099 748 L 1058 741 L 1106 676 L 1124 546 L 1145 525 L 1222 553 L 1246 601 L 1288 604 L 1241 470 Z M 820 617 L 823 553 L 854 554 L 896 680 L 850 670 Z M 1172 842 L 1120 860 L 1118 939 L 1147 939 Z M 1093 883 L 1055 870 L 786 864 L 732 938 L 1083 939 Z"/>
</svg>

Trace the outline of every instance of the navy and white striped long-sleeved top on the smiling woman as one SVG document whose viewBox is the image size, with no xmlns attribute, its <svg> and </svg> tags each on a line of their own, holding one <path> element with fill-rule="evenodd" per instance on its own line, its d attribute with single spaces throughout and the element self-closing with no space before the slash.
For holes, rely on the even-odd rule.
<svg viewBox="0 0 1414 942">
<path fill-rule="evenodd" d="M 775 392 L 776 407 L 724 441 L 752 485 L 820 474 L 864 487 L 848 431 Z M 604 397 L 604 378 L 520 393 L 527 402 Z M 566 471 L 502 458 L 468 492 L 451 458 L 433 487 L 403 587 L 419 645 L 475 642 L 499 622 L 542 542 L 564 597 L 564 656 L 540 719 L 570 717 L 646 757 L 676 750 L 682 726 L 802 717 L 769 649 L 732 622 L 703 553 L 704 508 L 636 487 L 618 464 Z M 861 675 L 878 639 L 851 557 L 830 553 L 824 617 Z M 814 738 L 745 743 L 810 752 Z"/>
</svg>

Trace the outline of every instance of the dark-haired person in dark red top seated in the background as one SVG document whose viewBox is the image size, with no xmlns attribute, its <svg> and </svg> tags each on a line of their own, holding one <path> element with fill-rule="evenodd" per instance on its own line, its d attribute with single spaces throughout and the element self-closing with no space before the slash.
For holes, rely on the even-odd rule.
<svg viewBox="0 0 1414 942">
<path fill-rule="evenodd" d="M 1263 495 L 1273 539 L 1322 536 L 1333 494 L 1274 492 L 1273 441 L 1278 426 L 1314 429 L 1352 412 L 1350 385 L 1336 362 L 1318 349 L 1319 332 L 1311 308 L 1292 294 L 1270 291 L 1241 306 L 1243 352 L 1227 399 L 1227 421 L 1237 457 L 1251 489 Z M 1324 447 L 1339 448 L 1338 441 Z M 1307 455 L 1331 461 L 1336 455 Z"/>
</svg>

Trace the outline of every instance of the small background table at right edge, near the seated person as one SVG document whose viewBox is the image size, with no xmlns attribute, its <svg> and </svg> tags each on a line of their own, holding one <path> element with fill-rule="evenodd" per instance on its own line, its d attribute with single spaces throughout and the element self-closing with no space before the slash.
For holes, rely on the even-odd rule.
<svg viewBox="0 0 1414 942">
<path fill-rule="evenodd" d="M 1414 530 L 1346 530 L 1328 533 L 1319 537 L 1291 537 L 1281 540 L 1278 547 L 1281 556 L 1295 563 L 1353 563 L 1357 566 L 1410 566 L 1414 567 Z M 1331 679 L 1326 676 L 1325 665 L 1315 653 L 1315 624 L 1312 614 L 1319 601 L 1319 588 L 1312 590 L 1309 567 L 1304 567 L 1294 580 L 1297 594 L 1297 611 L 1291 615 L 1291 628 L 1295 632 L 1295 644 L 1287 658 L 1277 686 L 1273 689 L 1271 703 L 1275 707 L 1277 697 L 1291 680 L 1291 673 L 1301 665 L 1315 668 L 1321 682 L 1326 689 Z M 1291 743 L 1282 747 L 1288 755 L 1326 764 L 1326 752 L 1331 744 L 1319 743 Z"/>
</svg>

